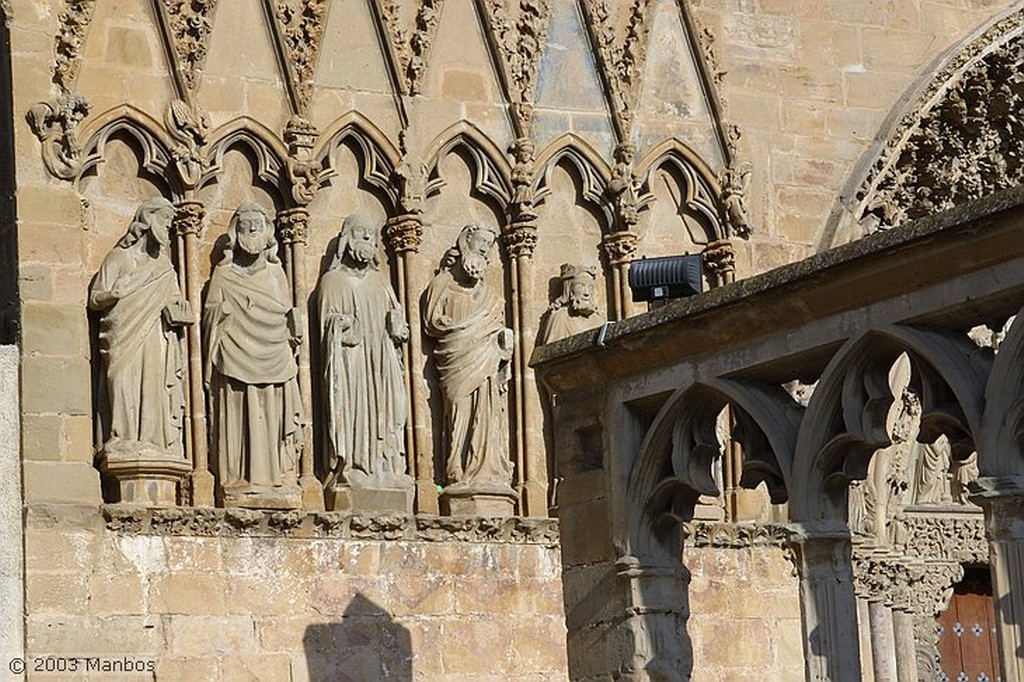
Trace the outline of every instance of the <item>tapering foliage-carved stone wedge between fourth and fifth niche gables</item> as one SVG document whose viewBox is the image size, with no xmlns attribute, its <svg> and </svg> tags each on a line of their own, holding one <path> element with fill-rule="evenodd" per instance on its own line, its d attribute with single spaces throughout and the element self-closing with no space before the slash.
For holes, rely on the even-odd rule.
<svg viewBox="0 0 1024 682">
<path fill-rule="evenodd" d="M 548 0 L 487 0 L 483 4 L 490 37 L 501 56 L 512 115 L 519 130 L 529 130 L 537 98 L 537 75 L 548 42 Z"/>
</svg>

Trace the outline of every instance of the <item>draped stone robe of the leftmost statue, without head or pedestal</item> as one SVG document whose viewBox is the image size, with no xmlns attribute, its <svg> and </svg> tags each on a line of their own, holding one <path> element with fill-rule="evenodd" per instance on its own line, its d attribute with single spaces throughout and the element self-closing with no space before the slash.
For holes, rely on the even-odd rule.
<svg viewBox="0 0 1024 682">
<path fill-rule="evenodd" d="M 142 246 L 111 251 L 89 294 L 91 308 L 106 308 L 99 322 L 110 409 L 105 447 L 153 446 L 183 457 L 181 343 L 163 316 L 181 291 L 166 255 L 135 263 L 133 253 Z M 121 297 L 110 304 L 115 288 Z"/>
</svg>

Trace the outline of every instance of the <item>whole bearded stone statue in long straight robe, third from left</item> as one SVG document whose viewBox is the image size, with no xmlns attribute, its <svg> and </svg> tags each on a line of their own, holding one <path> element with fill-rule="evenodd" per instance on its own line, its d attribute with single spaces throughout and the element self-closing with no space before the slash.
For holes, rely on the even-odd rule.
<svg viewBox="0 0 1024 682">
<path fill-rule="evenodd" d="M 409 325 L 378 269 L 379 232 L 364 215 L 346 218 L 317 290 L 330 472 L 325 488 L 329 509 L 412 512 L 398 349 L 409 340 Z"/>
</svg>

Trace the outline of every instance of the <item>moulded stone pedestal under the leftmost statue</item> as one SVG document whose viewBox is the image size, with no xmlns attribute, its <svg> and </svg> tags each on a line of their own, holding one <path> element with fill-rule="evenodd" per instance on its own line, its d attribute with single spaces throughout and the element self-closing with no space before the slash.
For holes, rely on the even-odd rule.
<svg viewBox="0 0 1024 682">
<path fill-rule="evenodd" d="M 104 476 L 118 481 L 118 502 L 146 507 L 177 505 L 178 482 L 191 471 L 187 460 L 144 443 L 109 445 L 98 464 Z"/>
</svg>

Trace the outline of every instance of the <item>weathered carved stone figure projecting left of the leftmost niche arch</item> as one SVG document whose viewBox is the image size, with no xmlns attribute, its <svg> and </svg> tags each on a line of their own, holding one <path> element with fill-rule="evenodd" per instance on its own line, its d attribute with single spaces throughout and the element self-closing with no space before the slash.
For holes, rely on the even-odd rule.
<svg viewBox="0 0 1024 682">
<path fill-rule="evenodd" d="M 76 129 L 89 113 L 88 100 L 71 92 L 29 109 L 26 120 L 43 145 L 43 163 L 54 176 L 71 180 L 82 167 Z"/>
</svg>

